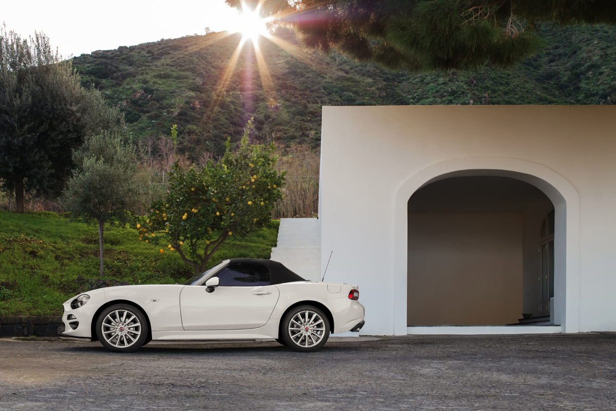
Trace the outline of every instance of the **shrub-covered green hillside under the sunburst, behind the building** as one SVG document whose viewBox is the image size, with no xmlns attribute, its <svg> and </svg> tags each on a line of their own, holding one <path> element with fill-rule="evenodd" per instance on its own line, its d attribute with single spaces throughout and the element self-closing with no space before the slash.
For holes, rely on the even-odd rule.
<svg viewBox="0 0 616 411">
<path fill-rule="evenodd" d="M 251 116 L 257 140 L 318 146 L 322 105 L 607 104 L 616 99 L 616 28 L 543 28 L 541 34 L 545 52 L 512 71 L 445 75 L 391 72 L 336 53 L 291 54 L 262 39 L 274 84 L 267 91 L 247 43 L 227 85 L 216 93 L 239 35 L 119 47 L 81 55 L 73 64 L 84 85 L 94 84 L 126 113 L 137 140 L 166 134 L 178 124 L 180 150 L 196 160 L 206 150 L 221 153 L 227 136 L 240 136 Z M 290 33 L 277 36 L 299 50 Z"/>
</svg>

